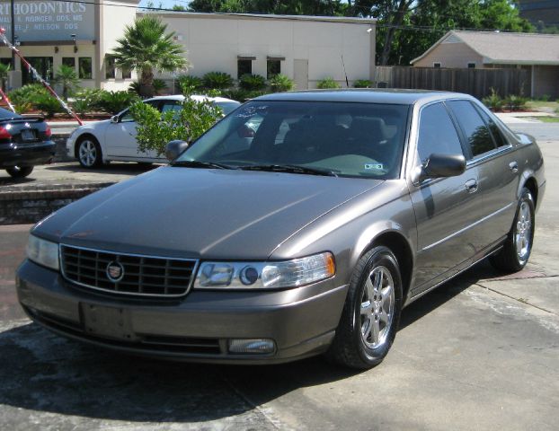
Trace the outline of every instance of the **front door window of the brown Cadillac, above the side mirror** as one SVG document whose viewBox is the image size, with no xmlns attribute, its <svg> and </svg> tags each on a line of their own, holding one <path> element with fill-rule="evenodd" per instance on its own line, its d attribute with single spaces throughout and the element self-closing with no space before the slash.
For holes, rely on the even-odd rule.
<svg viewBox="0 0 559 431">
<path fill-rule="evenodd" d="M 435 103 L 421 110 L 417 151 L 421 163 L 430 154 L 463 154 L 457 129 L 442 103 Z"/>
</svg>

